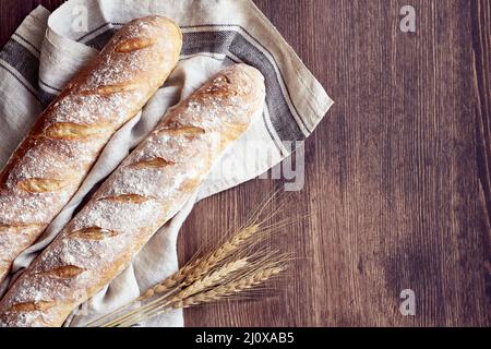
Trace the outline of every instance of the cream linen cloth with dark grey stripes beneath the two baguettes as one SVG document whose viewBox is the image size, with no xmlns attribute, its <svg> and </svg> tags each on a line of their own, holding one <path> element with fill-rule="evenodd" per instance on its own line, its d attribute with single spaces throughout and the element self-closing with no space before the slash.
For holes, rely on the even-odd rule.
<svg viewBox="0 0 491 349">
<path fill-rule="evenodd" d="M 176 239 L 195 202 L 264 173 L 306 140 L 333 101 L 291 47 L 250 0 L 70 0 L 53 13 L 34 10 L 0 52 L 0 167 L 36 117 L 73 74 L 125 22 L 149 14 L 176 21 L 183 49 L 175 72 L 143 111 L 108 143 L 80 191 L 41 239 L 20 255 L 9 287 L 70 220 L 91 190 L 129 154 L 165 111 L 226 65 L 246 62 L 266 79 L 266 106 L 244 136 L 214 167 L 183 209 L 145 245 L 118 278 L 75 310 L 67 326 L 81 326 L 121 305 L 178 267 Z M 183 326 L 181 311 L 142 326 Z"/>
</svg>

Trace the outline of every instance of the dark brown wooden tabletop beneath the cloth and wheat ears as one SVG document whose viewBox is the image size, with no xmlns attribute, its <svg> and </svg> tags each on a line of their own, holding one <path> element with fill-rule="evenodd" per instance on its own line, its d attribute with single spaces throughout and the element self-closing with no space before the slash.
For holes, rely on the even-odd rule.
<svg viewBox="0 0 491 349">
<path fill-rule="evenodd" d="M 38 3 L 61 2 L 2 0 L 0 45 Z M 490 2 L 255 2 L 336 105 L 307 142 L 304 190 L 275 218 L 309 215 L 278 239 L 297 256 L 285 280 L 256 301 L 188 310 L 187 325 L 491 325 Z M 416 34 L 399 29 L 408 3 Z M 181 261 L 277 184 L 200 203 Z M 404 289 L 416 316 L 399 313 Z"/>
</svg>

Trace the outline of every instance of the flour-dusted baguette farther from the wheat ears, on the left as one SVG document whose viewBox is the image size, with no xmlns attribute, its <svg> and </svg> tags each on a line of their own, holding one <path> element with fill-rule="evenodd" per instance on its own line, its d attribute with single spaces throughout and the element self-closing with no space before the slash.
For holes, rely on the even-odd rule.
<svg viewBox="0 0 491 349">
<path fill-rule="evenodd" d="M 0 173 L 0 281 L 73 196 L 111 135 L 161 86 L 181 46 L 170 20 L 134 20 L 41 113 Z"/>
</svg>

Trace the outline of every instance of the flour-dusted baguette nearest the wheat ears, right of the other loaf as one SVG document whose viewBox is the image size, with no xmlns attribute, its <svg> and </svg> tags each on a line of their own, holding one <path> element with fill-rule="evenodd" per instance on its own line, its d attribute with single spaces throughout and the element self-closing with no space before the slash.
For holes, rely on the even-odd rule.
<svg viewBox="0 0 491 349">
<path fill-rule="evenodd" d="M 0 326 L 60 326 L 120 274 L 261 112 L 264 77 L 228 68 L 170 111 L 0 303 Z"/>
</svg>

